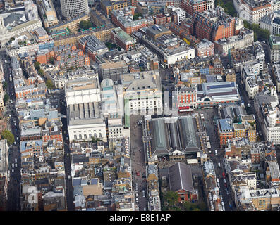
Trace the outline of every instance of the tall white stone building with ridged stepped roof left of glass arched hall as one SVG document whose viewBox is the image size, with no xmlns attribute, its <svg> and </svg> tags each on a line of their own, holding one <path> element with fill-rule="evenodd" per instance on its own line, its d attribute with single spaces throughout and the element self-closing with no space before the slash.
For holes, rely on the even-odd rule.
<svg viewBox="0 0 280 225">
<path fill-rule="evenodd" d="M 98 78 L 75 79 L 65 85 L 69 141 L 107 141 Z"/>
</svg>

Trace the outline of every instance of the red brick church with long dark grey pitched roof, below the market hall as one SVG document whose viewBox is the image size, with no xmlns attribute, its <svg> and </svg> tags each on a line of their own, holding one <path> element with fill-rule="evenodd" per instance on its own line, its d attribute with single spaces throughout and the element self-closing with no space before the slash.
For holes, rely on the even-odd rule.
<svg viewBox="0 0 280 225">
<path fill-rule="evenodd" d="M 178 162 L 168 168 L 171 191 L 178 193 L 178 201 L 196 201 L 198 192 L 193 187 L 193 176 L 189 165 Z"/>
</svg>

